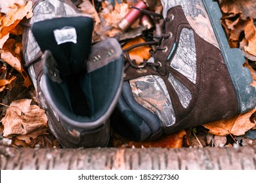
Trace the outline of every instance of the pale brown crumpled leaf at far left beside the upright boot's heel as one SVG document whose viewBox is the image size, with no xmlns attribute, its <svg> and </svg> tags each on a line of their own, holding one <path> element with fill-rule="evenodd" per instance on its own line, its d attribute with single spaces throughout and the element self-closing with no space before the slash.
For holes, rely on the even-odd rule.
<svg viewBox="0 0 256 183">
<path fill-rule="evenodd" d="M 30 105 L 32 99 L 12 101 L 1 120 L 4 126 L 3 136 L 30 142 L 30 138 L 47 134 L 47 116 L 45 110 Z"/>
</svg>

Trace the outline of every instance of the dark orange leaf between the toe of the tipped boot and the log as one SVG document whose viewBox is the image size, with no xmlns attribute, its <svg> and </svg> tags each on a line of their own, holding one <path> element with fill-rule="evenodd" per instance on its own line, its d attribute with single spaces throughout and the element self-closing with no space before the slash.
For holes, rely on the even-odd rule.
<svg viewBox="0 0 256 183">
<path fill-rule="evenodd" d="M 129 147 L 135 146 L 136 148 L 158 147 L 158 148 L 182 148 L 183 137 L 186 135 L 186 131 L 181 130 L 178 133 L 171 135 L 163 135 L 156 141 L 144 141 L 144 142 L 129 142 Z"/>
</svg>

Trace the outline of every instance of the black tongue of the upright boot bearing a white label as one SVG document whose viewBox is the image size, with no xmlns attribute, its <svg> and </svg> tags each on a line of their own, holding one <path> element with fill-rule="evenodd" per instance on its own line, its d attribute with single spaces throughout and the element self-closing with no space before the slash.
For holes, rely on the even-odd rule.
<svg viewBox="0 0 256 183">
<path fill-rule="evenodd" d="M 32 26 L 41 50 L 53 54 L 60 76 L 81 73 L 89 55 L 92 31 L 93 19 L 87 16 L 53 18 Z"/>
</svg>

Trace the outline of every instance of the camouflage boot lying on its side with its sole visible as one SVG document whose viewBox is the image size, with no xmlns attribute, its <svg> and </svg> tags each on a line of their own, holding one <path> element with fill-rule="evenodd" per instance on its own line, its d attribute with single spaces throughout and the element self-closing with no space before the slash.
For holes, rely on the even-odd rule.
<svg viewBox="0 0 256 183">
<path fill-rule="evenodd" d="M 211 0 L 161 0 L 164 28 L 152 58 L 125 70 L 114 129 L 135 141 L 156 139 L 255 107 L 252 77 L 230 49 Z"/>
</svg>

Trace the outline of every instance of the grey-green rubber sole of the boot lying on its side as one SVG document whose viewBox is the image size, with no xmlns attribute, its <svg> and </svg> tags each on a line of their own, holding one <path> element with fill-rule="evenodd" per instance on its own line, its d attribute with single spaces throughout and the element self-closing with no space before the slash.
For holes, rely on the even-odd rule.
<svg viewBox="0 0 256 183">
<path fill-rule="evenodd" d="M 253 78 L 249 69 L 244 67 L 245 58 L 239 48 L 230 48 L 223 27 L 221 25 L 221 10 L 217 2 L 203 0 L 205 10 L 208 13 L 213 31 L 219 42 L 224 61 L 236 90 L 239 112 L 244 113 L 255 108 L 256 92 L 253 86 Z"/>
</svg>

